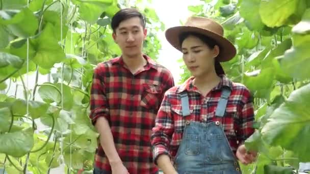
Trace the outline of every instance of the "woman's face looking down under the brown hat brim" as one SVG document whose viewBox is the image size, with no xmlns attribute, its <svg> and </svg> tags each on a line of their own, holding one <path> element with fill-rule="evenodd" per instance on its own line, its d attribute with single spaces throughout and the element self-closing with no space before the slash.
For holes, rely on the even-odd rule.
<svg viewBox="0 0 310 174">
<path fill-rule="evenodd" d="M 183 61 L 194 77 L 203 77 L 214 71 L 214 58 L 219 53 L 216 45 L 210 48 L 198 37 L 189 35 L 182 43 Z"/>
</svg>

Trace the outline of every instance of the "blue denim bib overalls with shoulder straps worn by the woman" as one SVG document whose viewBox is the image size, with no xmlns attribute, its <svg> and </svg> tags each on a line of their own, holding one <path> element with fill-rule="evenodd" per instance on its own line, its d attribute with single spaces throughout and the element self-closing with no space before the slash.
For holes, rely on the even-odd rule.
<svg viewBox="0 0 310 174">
<path fill-rule="evenodd" d="M 230 89 L 223 88 L 216 117 L 223 117 Z M 181 94 L 183 117 L 190 114 L 188 94 Z M 178 174 L 237 174 L 241 173 L 220 122 L 186 121 L 183 139 L 175 156 Z"/>
</svg>

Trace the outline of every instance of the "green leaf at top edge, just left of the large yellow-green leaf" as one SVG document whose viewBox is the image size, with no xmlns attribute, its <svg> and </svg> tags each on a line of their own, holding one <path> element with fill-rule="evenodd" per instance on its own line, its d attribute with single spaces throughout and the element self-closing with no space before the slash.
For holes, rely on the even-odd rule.
<svg viewBox="0 0 310 174">
<path fill-rule="evenodd" d="M 253 30 L 260 31 L 264 27 L 259 13 L 261 0 L 247 0 L 241 2 L 240 15 L 249 22 Z"/>
</svg>

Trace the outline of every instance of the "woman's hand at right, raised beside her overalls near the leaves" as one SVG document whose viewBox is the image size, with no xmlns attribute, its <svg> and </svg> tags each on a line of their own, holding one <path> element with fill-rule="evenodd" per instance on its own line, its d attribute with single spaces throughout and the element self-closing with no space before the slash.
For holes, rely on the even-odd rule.
<svg viewBox="0 0 310 174">
<path fill-rule="evenodd" d="M 256 160 L 257 152 L 247 151 L 244 144 L 242 144 L 237 149 L 236 156 L 243 164 L 247 165 Z"/>
</svg>

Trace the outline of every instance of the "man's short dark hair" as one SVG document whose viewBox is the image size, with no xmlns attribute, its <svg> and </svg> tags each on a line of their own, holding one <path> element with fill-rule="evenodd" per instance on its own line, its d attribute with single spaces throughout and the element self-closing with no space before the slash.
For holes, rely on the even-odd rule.
<svg viewBox="0 0 310 174">
<path fill-rule="evenodd" d="M 128 8 L 128 9 L 121 9 L 115 15 L 112 17 L 111 20 L 111 27 L 113 32 L 115 32 L 116 28 L 119 26 L 120 22 L 133 18 L 133 17 L 139 17 L 141 21 L 141 25 L 143 29 L 145 28 L 145 17 L 140 13 L 137 9 Z"/>
</svg>

